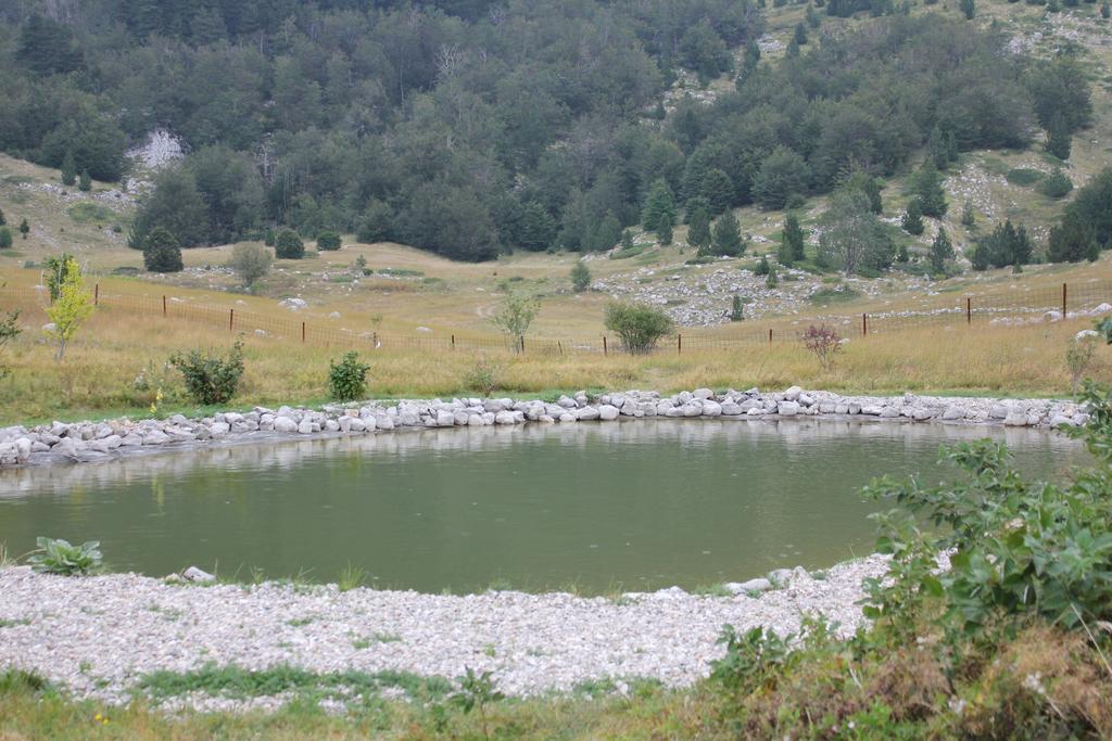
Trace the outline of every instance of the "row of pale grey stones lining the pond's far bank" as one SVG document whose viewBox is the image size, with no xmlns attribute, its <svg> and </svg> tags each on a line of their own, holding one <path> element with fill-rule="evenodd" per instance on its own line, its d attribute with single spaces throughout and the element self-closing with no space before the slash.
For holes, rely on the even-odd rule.
<svg viewBox="0 0 1112 741">
<path fill-rule="evenodd" d="M 804 391 L 797 385 L 778 392 L 758 389 L 711 389 L 661 395 L 655 391 L 625 391 L 588 397 L 579 391 L 555 403 L 514 399 L 439 399 L 366 402 L 322 409 L 256 407 L 240 412 L 188 419 L 128 419 L 108 422 L 53 422 L 33 428 L 0 430 L 0 468 L 58 462 L 106 460 L 127 452 L 180 450 L 187 444 L 216 441 L 278 441 L 310 434 L 367 434 L 404 429 L 479 427 L 490 424 L 613 422 L 652 417 L 723 420 L 857 419 L 900 422 L 1004 424 L 1058 428 L 1083 424 L 1089 418 L 1081 404 L 1051 399 L 991 399 L 973 397 L 841 395 Z"/>
</svg>

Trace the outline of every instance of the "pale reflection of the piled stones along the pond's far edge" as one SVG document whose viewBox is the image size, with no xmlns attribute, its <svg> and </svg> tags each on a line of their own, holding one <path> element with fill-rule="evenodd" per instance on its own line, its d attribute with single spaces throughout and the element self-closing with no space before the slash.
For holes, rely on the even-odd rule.
<svg viewBox="0 0 1112 741">
<path fill-rule="evenodd" d="M 852 439 L 867 447 L 870 441 L 903 441 L 946 444 L 991 437 L 1014 450 L 1051 447 L 1075 453 L 1081 447 L 1056 432 L 1027 428 L 937 425 L 891 422 L 857 422 L 793 419 L 785 422 L 752 421 L 746 418 L 718 420 L 643 419 L 617 424 L 498 425 L 425 429 L 391 434 L 349 435 L 311 440 L 270 440 L 208 447 L 181 452 L 159 452 L 110 459 L 78 465 L 43 465 L 0 472 L 0 498 L 39 493 L 67 493 L 75 488 L 97 489 L 136 479 L 177 479 L 198 472 L 244 469 L 292 470 L 309 459 L 345 455 L 395 457 L 405 459 L 429 452 L 475 453 L 506 449 L 515 444 L 558 444 L 564 449 L 658 444 L 681 449 L 724 444 L 727 449 L 755 447 L 762 441 L 780 441 L 787 450 L 805 451 L 833 441 Z M 1065 462 L 1069 461 L 1069 455 Z M 883 473 L 877 461 L 877 473 Z M 1064 465 L 1064 463 L 1063 463 Z M 554 475 L 563 472 L 554 471 Z"/>
</svg>

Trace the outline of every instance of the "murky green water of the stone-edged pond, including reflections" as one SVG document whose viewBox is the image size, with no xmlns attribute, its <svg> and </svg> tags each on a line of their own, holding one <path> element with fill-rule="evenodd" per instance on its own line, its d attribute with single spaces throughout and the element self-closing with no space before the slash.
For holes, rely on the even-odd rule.
<svg viewBox="0 0 1112 741">
<path fill-rule="evenodd" d="M 638 421 L 267 441 L 0 472 L 0 543 L 100 540 L 108 565 L 381 588 L 695 588 L 872 552 L 860 489 L 950 475 L 947 441 L 1004 439 L 1030 473 L 1058 433 L 914 424 Z"/>
</svg>

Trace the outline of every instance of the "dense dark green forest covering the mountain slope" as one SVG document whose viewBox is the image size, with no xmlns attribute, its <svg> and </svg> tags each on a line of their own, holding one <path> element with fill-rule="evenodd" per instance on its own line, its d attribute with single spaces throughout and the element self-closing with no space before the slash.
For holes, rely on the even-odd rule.
<svg viewBox="0 0 1112 741">
<path fill-rule="evenodd" d="M 865 3 L 881 17 L 834 37 L 822 14 L 857 8 L 824 3 L 770 63 L 758 2 L 16 0 L 0 148 L 118 180 L 166 128 L 189 153 L 138 237 L 288 224 L 477 260 L 613 247 L 654 189 L 712 218 L 783 208 L 924 146 L 945 166 L 1092 116 L 1071 54 L 1011 53 L 957 13 Z M 734 88 L 666 109 L 682 70 Z"/>
</svg>

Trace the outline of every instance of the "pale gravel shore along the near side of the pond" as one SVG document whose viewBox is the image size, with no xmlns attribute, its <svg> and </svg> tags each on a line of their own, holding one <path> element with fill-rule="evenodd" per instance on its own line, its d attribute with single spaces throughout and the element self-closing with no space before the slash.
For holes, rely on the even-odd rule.
<svg viewBox="0 0 1112 741">
<path fill-rule="evenodd" d="M 885 570 L 873 555 L 814 579 L 784 572 L 782 587 L 733 597 L 672 588 L 617 599 L 566 593 L 469 595 L 335 584 L 256 587 L 168 583 L 136 574 L 66 578 L 0 569 L 0 668 L 34 671 L 76 698 L 127 702 L 145 674 L 205 665 L 315 673 L 397 670 L 454 679 L 490 670 L 507 694 L 573 690 L 590 680 L 654 679 L 682 687 L 705 677 L 725 624 L 798 630 L 821 612 L 852 632 L 861 581 Z M 275 707 L 282 698 L 189 693 L 175 708 Z M 269 703 L 269 704 L 268 704 Z"/>
</svg>

